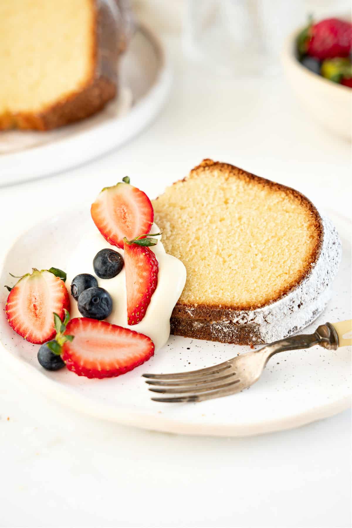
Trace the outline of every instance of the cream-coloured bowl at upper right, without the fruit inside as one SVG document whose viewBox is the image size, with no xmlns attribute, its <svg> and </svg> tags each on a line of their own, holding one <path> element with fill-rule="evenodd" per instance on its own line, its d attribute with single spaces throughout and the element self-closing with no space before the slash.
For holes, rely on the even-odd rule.
<svg viewBox="0 0 352 528">
<path fill-rule="evenodd" d="M 309 71 L 297 58 L 299 29 L 284 43 L 281 60 L 284 73 L 307 112 L 332 133 L 351 138 L 352 90 Z"/>
</svg>

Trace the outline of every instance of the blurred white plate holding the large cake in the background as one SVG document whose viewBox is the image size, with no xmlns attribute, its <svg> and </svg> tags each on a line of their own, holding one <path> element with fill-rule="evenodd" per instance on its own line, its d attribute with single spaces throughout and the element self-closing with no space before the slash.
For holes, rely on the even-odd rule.
<svg viewBox="0 0 352 528">
<path fill-rule="evenodd" d="M 163 107 L 172 73 L 163 46 L 139 26 L 120 63 L 119 97 L 77 124 L 49 132 L 0 132 L 0 186 L 64 171 L 136 136 Z"/>
</svg>

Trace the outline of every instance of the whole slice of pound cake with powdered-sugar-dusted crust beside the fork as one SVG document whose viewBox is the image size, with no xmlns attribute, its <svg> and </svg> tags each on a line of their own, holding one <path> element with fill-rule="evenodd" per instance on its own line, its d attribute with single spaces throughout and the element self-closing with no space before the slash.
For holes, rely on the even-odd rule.
<svg viewBox="0 0 352 528">
<path fill-rule="evenodd" d="M 174 334 L 270 343 L 324 310 L 341 244 L 298 191 L 205 159 L 153 207 L 166 252 L 187 270 Z"/>
</svg>

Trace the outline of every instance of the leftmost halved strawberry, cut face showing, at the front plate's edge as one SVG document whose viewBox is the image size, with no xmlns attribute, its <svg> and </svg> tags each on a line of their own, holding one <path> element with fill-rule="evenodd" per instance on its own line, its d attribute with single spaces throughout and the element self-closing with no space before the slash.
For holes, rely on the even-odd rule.
<svg viewBox="0 0 352 528">
<path fill-rule="evenodd" d="M 30 343 L 45 343 L 55 336 L 53 312 L 61 318 L 70 308 L 64 282 L 47 270 L 33 268 L 12 288 L 6 303 L 8 324 Z"/>
</svg>

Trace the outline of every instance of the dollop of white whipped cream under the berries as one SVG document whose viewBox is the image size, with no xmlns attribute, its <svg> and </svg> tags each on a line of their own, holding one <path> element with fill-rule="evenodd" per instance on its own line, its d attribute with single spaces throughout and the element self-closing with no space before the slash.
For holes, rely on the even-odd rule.
<svg viewBox="0 0 352 528">
<path fill-rule="evenodd" d="M 158 233 L 159 228 L 153 224 L 150 233 Z M 158 260 L 158 284 L 154 294 L 151 296 L 150 304 L 147 308 L 146 315 L 136 325 L 127 324 L 127 294 L 125 266 L 122 271 L 112 279 L 100 279 L 96 276 L 93 269 L 93 258 L 98 251 L 104 248 L 111 248 L 121 253 L 124 258 L 123 249 L 111 246 L 99 233 L 92 227 L 82 240 L 78 243 L 75 251 L 67 266 L 66 288 L 69 292 L 71 309 L 71 319 L 73 317 L 82 317 L 78 310 L 77 301 L 71 295 L 71 281 L 81 273 L 89 273 L 96 277 L 98 286 L 106 289 L 112 298 L 112 312 L 107 320 L 109 323 L 130 328 L 141 334 L 145 334 L 154 342 L 155 350 L 164 346 L 170 335 L 170 316 L 175 304 L 186 282 L 186 268 L 177 258 L 165 252 L 161 235 L 154 237 L 158 239 L 156 246 L 150 247 L 154 251 Z"/>
</svg>

